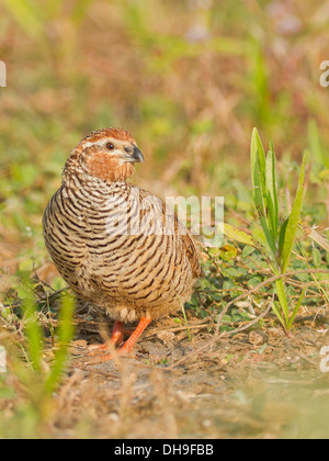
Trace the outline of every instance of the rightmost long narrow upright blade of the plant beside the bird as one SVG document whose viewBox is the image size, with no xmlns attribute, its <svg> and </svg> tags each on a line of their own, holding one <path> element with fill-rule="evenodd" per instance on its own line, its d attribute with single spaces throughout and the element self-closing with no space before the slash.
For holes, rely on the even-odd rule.
<svg viewBox="0 0 329 461">
<path fill-rule="evenodd" d="M 306 166 L 306 159 L 307 155 L 304 154 L 300 175 L 299 175 L 299 181 L 298 181 L 298 188 L 296 192 L 296 199 L 293 205 L 292 213 L 290 215 L 285 235 L 284 235 L 284 241 L 282 246 L 282 254 L 281 254 L 281 271 L 282 273 L 285 273 L 291 252 L 293 249 L 294 240 L 296 231 L 298 227 L 299 216 L 300 216 L 300 210 L 302 210 L 302 203 L 303 203 L 303 193 L 304 193 L 304 179 L 305 179 L 305 166 Z"/>
</svg>

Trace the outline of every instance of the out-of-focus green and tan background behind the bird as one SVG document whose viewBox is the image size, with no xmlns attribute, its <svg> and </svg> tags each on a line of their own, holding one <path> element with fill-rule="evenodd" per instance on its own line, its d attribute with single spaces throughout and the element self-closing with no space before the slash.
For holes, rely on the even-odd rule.
<svg viewBox="0 0 329 461">
<path fill-rule="evenodd" d="M 48 260 L 42 212 L 71 149 L 104 126 L 137 139 L 136 183 L 225 195 L 228 221 L 254 216 L 253 126 L 275 143 L 282 194 L 309 149 L 304 220 L 328 226 L 328 25 L 319 0 L 3 0 L 0 267 Z"/>
</svg>

